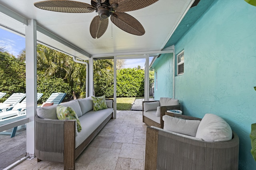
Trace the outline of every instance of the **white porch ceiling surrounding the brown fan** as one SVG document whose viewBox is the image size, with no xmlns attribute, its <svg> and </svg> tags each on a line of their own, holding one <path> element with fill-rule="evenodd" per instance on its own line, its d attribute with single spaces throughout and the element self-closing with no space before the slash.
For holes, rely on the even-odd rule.
<svg viewBox="0 0 256 170">
<path fill-rule="evenodd" d="M 92 13 L 61 13 L 40 10 L 33 4 L 38 0 L 0 0 L 0 4 L 26 19 L 35 19 L 37 24 L 85 51 L 97 57 L 106 54 L 134 53 L 146 51 L 161 51 L 170 35 L 182 19 L 194 0 L 159 0 L 158 2 L 140 10 L 127 12 L 136 18 L 146 33 L 136 36 L 126 33 L 112 24 L 99 39 L 90 35 L 90 22 L 96 12 Z M 40 1 L 40 0 L 39 0 Z M 90 4 L 90 0 L 77 0 Z M 25 33 L 25 25 L 0 12 L 0 24 L 18 32 Z M 113 38 L 112 38 L 113 34 Z M 65 45 L 38 32 L 38 41 L 79 58 L 85 56 Z M 85 59 L 85 58 L 84 58 Z"/>
</svg>

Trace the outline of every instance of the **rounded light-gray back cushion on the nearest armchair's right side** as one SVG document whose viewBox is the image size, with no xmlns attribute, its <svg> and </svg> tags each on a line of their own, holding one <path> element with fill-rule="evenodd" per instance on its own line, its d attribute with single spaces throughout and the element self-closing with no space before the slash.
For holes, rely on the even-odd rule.
<svg viewBox="0 0 256 170">
<path fill-rule="evenodd" d="M 208 142 L 229 141 L 232 139 L 232 130 L 224 119 L 207 113 L 198 126 L 196 137 Z"/>
</svg>

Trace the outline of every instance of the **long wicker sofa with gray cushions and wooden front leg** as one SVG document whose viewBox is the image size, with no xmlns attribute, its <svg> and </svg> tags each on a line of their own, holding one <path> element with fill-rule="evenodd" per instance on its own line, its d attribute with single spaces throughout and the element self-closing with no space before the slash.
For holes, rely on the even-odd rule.
<svg viewBox="0 0 256 170">
<path fill-rule="evenodd" d="M 62 103 L 78 115 L 82 131 L 77 132 L 75 120 L 59 120 L 57 105 L 40 107 L 35 117 L 35 154 L 40 160 L 64 162 L 64 169 L 75 169 L 75 160 L 113 118 L 113 100 L 106 100 L 107 109 L 93 111 L 92 98 Z"/>
</svg>

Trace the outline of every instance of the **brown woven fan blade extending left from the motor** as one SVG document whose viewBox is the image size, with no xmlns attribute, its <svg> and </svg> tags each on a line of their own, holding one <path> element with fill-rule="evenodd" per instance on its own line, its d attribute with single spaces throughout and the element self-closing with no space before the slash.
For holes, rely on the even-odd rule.
<svg viewBox="0 0 256 170">
<path fill-rule="evenodd" d="M 35 2 L 34 6 L 42 10 L 68 13 L 88 13 L 94 12 L 90 4 L 72 0 L 46 0 Z"/>
</svg>

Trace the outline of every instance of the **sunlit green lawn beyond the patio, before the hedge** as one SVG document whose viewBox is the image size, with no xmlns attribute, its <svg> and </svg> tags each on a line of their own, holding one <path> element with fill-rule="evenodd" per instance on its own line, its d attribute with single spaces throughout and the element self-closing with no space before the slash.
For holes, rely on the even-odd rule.
<svg viewBox="0 0 256 170">
<path fill-rule="evenodd" d="M 132 97 L 132 98 L 116 98 L 117 110 L 131 110 L 132 104 L 135 99 L 143 99 L 144 97 Z"/>
</svg>

